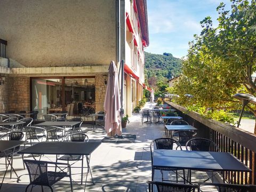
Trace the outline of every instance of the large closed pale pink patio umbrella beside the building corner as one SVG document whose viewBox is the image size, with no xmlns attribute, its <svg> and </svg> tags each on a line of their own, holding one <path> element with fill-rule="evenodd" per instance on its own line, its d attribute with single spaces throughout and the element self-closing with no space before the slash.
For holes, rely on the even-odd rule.
<svg viewBox="0 0 256 192">
<path fill-rule="evenodd" d="M 108 69 L 108 84 L 104 101 L 105 130 L 109 136 L 122 135 L 121 127 L 121 101 L 119 94 L 117 68 L 114 61 L 110 62 Z"/>
</svg>

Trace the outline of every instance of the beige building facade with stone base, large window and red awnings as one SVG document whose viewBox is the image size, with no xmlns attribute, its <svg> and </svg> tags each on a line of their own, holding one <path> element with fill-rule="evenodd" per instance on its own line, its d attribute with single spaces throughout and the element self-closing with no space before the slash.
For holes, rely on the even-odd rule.
<svg viewBox="0 0 256 192">
<path fill-rule="evenodd" d="M 142 98 L 146 7 L 141 0 L 1 1 L 0 111 L 75 115 L 77 103 L 103 110 L 109 63 L 119 69 L 125 60 L 124 109 L 131 115 Z"/>
</svg>

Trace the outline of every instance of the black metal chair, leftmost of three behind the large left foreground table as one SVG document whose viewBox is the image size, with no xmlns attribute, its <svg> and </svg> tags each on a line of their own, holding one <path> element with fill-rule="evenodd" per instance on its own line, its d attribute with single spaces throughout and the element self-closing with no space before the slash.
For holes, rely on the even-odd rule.
<svg viewBox="0 0 256 192">
<path fill-rule="evenodd" d="M 30 146 L 32 146 L 32 140 L 37 140 L 38 142 L 39 139 L 41 139 L 41 141 L 43 140 L 43 138 L 45 137 L 45 129 L 42 127 L 37 127 L 37 126 L 26 126 L 23 127 L 23 129 L 26 132 L 26 141 L 30 140 Z M 24 144 L 25 146 L 25 144 Z"/>
</svg>

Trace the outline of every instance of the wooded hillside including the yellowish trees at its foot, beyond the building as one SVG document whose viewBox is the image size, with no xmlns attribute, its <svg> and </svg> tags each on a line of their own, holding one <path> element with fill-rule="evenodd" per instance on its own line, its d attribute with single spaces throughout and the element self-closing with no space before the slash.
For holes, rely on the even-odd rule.
<svg viewBox="0 0 256 192">
<path fill-rule="evenodd" d="M 156 95 L 161 94 L 169 86 L 167 80 L 180 75 L 182 60 L 174 58 L 171 53 L 145 52 L 145 57 L 145 83 L 155 90 Z"/>
</svg>

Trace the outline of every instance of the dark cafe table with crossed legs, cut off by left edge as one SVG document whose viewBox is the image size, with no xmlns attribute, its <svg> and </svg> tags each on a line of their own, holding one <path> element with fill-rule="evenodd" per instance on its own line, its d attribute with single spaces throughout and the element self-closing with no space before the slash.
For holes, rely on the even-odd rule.
<svg viewBox="0 0 256 192">
<path fill-rule="evenodd" d="M 5 155 L 5 158 L 6 158 L 7 163 L 8 163 L 8 165 L 6 166 L 6 170 L 4 172 L 4 177 L 3 177 L 3 180 L 1 182 L 0 189 L 3 185 L 4 178 L 5 178 L 6 172 L 9 168 L 9 165 L 11 165 L 10 177 L 12 177 L 12 170 L 13 170 L 13 172 L 15 173 L 17 178 L 19 178 L 18 174 L 16 173 L 16 171 L 14 170 L 14 168 L 12 166 L 12 158 L 13 158 L 13 153 L 14 153 L 15 147 L 21 146 L 26 142 L 27 141 L 6 141 L 6 140 L 1 141 L 0 140 L 0 153 L 3 153 Z M 11 157 L 10 157 L 10 154 L 11 154 Z"/>
</svg>

